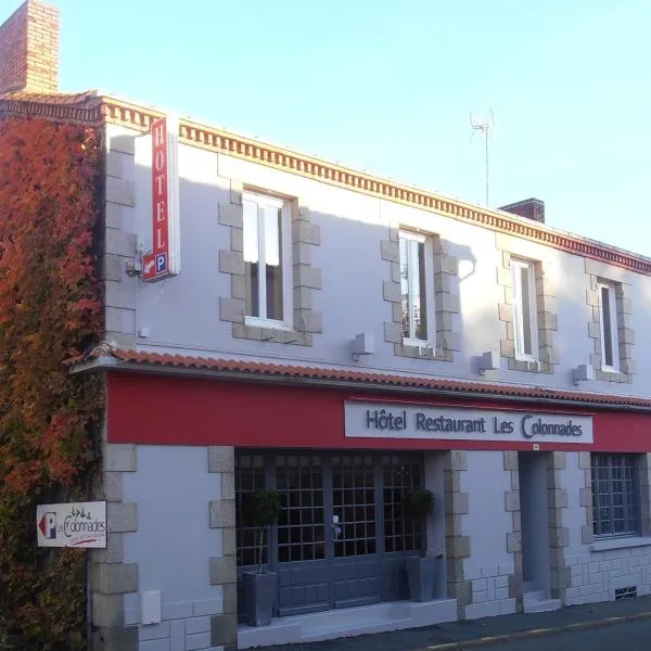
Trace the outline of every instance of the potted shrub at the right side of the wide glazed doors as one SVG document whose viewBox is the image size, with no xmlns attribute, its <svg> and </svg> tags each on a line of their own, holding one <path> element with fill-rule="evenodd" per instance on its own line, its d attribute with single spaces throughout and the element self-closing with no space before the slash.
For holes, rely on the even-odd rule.
<svg viewBox="0 0 651 651">
<path fill-rule="evenodd" d="M 404 506 L 405 515 L 421 524 L 423 540 L 421 556 L 409 557 L 406 561 L 409 597 L 412 601 L 430 601 L 434 599 L 434 582 L 439 564 L 437 558 L 425 553 L 427 515 L 434 510 L 434 494 L 426 488 L 414 488 L 405 496 Z"/>
</svg>

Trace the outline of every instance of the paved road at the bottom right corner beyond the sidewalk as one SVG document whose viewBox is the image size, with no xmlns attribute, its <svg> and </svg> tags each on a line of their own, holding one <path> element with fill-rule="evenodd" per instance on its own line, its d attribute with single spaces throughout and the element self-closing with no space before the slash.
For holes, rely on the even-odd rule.
<svg viewBox="0 0 651 651">
<path fill-rule="evenodd" d="M 497 642 L 474 647 L 477 651 L 650 651 L 651 620 L 622 622 L 587 630 Z M 422 649 L 422 651 L 425 651 Z M 419 650 L 421 651 L 421 650 Z"/>
</svg>

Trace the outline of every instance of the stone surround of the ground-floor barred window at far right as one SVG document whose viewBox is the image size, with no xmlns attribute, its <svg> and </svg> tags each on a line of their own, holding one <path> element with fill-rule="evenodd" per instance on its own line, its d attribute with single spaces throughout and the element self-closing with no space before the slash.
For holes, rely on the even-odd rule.
<svg viewBox="0 0 651 651">
<path fill-rule="evenodd" d="M 635 452 L 634 452 L 635 454 Z M 640 452 L 638 457 L 638 489 L 640 492 L 640 535 L 649 537 L 651 544 L 651 452 Z M 590 452 L 578 452 L 578 468 L 584 472 L 584 487 L 580 488 L 580 506 L 586 512 L 586 524 L 580 529 L 584 545 L 592 545 L 597 540 L 610 540 L 595 536 L 595 511 L 592 505 L 592 462 Z M 626 540 L 635 536 L 622 536 L 624 547 Z"/>
</svg>

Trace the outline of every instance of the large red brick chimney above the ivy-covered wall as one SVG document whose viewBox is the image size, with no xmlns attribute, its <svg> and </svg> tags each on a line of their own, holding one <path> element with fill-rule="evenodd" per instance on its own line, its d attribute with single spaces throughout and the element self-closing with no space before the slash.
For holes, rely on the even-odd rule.
<svg viewBox="0 0 651 651">
<path fill-rule="evenodd" d="M 0 92 L 59 89 L 59 10 L 27 0 L 0 25 Z"/>
</svg>

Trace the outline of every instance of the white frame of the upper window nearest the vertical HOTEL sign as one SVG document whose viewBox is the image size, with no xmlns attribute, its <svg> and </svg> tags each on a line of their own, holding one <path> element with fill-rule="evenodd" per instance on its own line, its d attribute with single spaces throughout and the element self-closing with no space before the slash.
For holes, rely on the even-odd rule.
<svg viewBox="0 0 651 651">
<path fill-rule="evenodd" d="M 259 282 L 263 277 L 261 269 L 264 268 L 265 256 L 265 229 L 263 228 L 264 219 L 261 219 L 261 206 L 271 206 L 280 209 L 280 238 L 281 238 L 281 255 L 280 260 L 282 267 L 282 314 L 283 319 L 268 319 L 266 317 L 254 317 L 244 315 L 244 323 L 257 328 L 270 328 L 273 330 L 293 330 L 294 306 L 293 306 L 293 269 L 292 269 L 292 225 L 290 220 L 289 203 L 285 200 L 277 196 L 268 196 L 255 192 L 243 192 L 242 202 L 251 201 L 257 205 L 257 227 L 258 227 L 258 298 L 260 311 L 267 311 L 267 282 Z M 246 234 L 244 233 L 244 238 Z"/>
</svg>

